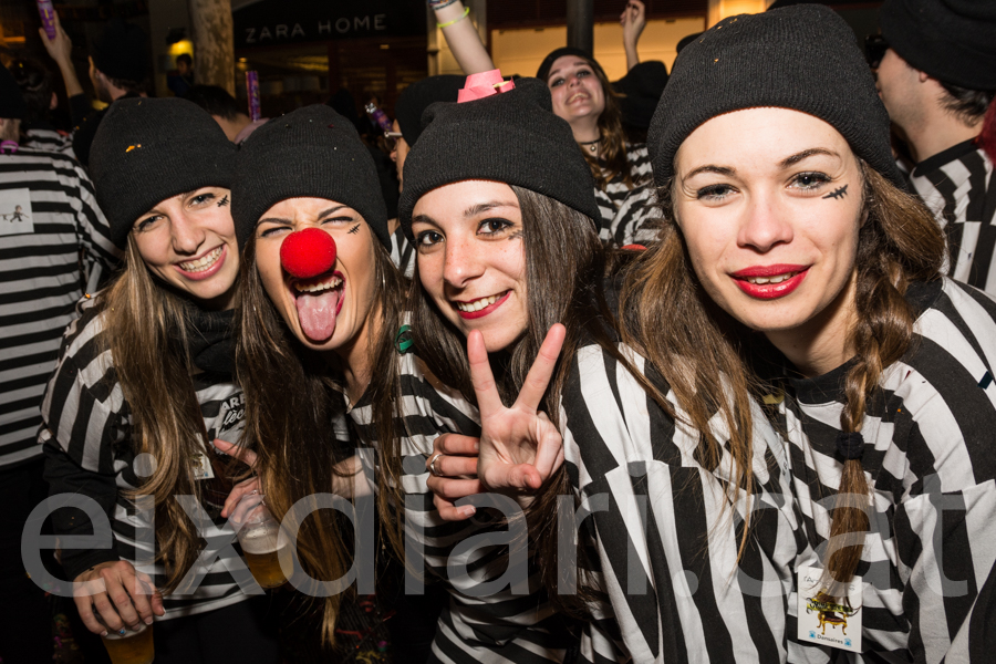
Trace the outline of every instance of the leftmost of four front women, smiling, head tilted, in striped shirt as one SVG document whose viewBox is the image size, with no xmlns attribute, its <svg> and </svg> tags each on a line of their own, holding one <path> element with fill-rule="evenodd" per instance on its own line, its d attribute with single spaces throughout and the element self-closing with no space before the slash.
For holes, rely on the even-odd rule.
<svg viewBox="0 0 996 664">
<path fill-rule="evenodd" d="M 237 578 L 238 562 L 200 543 L 229 541 L 215 481 L 224 464 L 209 442 L 238 440 L 242 428 L 232 380 L 235 152 L 189 102 L 111 107 L 91 175 L 125 267 L 86 295 L 42 404 L 51 492 L 96 501 L 113 531 L 104 548 L 62 551 L 80 616 L 98 634 L 155 621 L 156 662 L 279 658 L 266 598 L 243 592 L 248 573 Z M 73 509 L 53 521 L 63 536 L 100 532 Z"/>
</svg>

